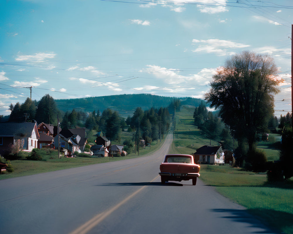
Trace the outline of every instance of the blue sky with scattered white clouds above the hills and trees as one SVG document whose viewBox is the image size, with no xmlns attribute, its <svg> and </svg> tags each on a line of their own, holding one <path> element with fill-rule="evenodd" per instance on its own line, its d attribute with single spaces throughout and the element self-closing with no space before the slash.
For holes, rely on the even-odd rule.
<svg viewBox="0 0 293 234">
<path fill-rule="evenodd" d="M 285 80 L 275 115 L 291 110 L 290 0 L 2 1 L 0 20 L 3 115 L 30 86 L 37 100 L 47 93 L 202 98 L 216 69 L 243 50 L 275 59 Z"/>
</svg>

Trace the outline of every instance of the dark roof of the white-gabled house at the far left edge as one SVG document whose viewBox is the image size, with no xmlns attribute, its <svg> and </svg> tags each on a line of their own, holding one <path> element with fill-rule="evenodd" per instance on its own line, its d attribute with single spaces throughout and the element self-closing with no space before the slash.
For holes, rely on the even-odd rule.
<svg viewBox="0 0 293 234">
<path fill-rule="evenodd" d="M 31 137 L 36 123 L 0 123 L 0 136 L 5 137 Z M 36 128 L 36 131 L 38 129 Z M 38 131 L 36 133 L 38 137 Z"/>
</svg>

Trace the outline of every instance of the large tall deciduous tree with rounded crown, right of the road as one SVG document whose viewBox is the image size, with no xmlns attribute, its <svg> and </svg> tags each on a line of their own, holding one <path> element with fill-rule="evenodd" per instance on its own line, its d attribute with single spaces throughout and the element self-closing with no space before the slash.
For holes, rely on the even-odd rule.
<svg viewBox="0 0 293 234">
<path fill-rule="evenodd" d="M 263 132 L 274 112 L 274 94 L 282 82 L 270 56 L 243 51 L 217 70 L 205 100 L 219 109 L 224 123 L 253 150 L 256 135 Z"/>
</svg>

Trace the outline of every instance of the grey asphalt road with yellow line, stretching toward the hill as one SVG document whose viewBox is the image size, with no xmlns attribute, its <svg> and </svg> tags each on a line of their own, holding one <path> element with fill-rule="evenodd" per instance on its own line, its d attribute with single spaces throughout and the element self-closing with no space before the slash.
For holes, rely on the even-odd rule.
<svg viewBox="0 0 293 234">
<path fill-rule="evenodd" d="M 0 180 L 0 232 L 273 233 L 200 180 L 161 185 L 170 144 L 141 158 Z"/>
</svg>

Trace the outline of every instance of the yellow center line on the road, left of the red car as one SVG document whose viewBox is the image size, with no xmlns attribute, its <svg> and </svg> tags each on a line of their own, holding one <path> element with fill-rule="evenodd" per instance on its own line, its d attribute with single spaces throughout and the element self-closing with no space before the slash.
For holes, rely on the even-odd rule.
<svg viewBox="0 0 293 234">
<path fill-rule="evenodd" d="M 159 176 L 156 176 L 151 182 L 156 180 Z M 149 182 L 149 183 L 151 183 Z M 137 195 L 140 191 L 142 191 L 147 185 L 142 186 L 140 189 L 136 190 L 134 193 L 132 193 L 130 196 L 126 197 L 124 200 L 119 202 L 117 205 L 109 209 L 108 211 L 104 211 L 103 213 L 97 214 L 93 218 L 91 218 L 89 221 L 84 223 L 83 225 L 79 226 L 77 229 L 75 229 L 73 232 L 70 234 L 86 234 L 88 233 L 91 229 L 93 229 L 95 226 L 97 226 L 101 221 L 103 221 L 106 217 L 108 217 L 110 214 L 112 214 L 115 210 L 120 208 L 123 204 L 128 202 L 132 197 Z"/>
</svg>

